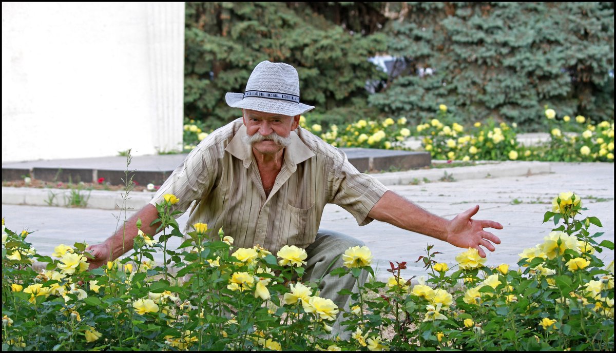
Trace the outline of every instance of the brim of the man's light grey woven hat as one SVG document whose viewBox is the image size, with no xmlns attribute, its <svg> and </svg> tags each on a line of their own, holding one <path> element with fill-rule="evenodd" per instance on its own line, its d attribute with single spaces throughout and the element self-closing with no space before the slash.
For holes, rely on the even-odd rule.
<svg viewBox="0 0 616 353">
<path fill-rule="evenodd" d="M 314 109 L 312 105 L 304 103 L 289 102 L 281 99 L 270 99 L 262 97 L 246 97 L 241 93 L 228 92 L 225 95 L 227 105 L 233 108 L 245 108 L 256 110 L 257 112 L 274 113 L 282 115 L 301 115 Z"/>
</svg>

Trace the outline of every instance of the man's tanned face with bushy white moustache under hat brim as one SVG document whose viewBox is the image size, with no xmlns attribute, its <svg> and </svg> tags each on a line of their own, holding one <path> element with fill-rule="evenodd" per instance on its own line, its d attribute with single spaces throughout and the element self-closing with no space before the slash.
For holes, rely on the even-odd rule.
<svg viewBox="0 0 616 353">
<path fill-rule="evenodd" d="M 288 142 L 285 144 L 285 139 L 299 125 L 299 115 L 263 113 L 249 109 L 243 110 L 243 119 L 248 140 L 252 140 L 250 143 L 254 150 L 267 155 L 278 153 L 285 148 L 288 145 Z"/>
</svg>

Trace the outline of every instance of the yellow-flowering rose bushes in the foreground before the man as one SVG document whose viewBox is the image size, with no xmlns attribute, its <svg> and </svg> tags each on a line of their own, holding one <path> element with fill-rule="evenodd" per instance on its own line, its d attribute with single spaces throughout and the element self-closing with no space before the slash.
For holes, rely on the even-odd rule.
<svg viewBox="0 0 616 353">
<path fill-rule="evenodd" d="M 387 283 L 341 291 L 351 294 L 348 310 L 302 282 L 303 249 L 232 249 L 232 236 L 203 223 L 184 235 L 169 213 L 177 198 L 165 200 L 157 209 L 171 232 L 140 233 L 132 254 L 99 269 L 89 269 L 85 244 L 41 256 L 3 220 L 2 350 L 614 349 L 614 261 L 599 257 L 614 243 L 596 241 L 601 222 L 582 216 L 575 193 L 554 198 L 543 219 L 554 229 L 522 251 L 518 269 L 487 267 L 476 249 L 437 262 L 428 246 L 416 261 L 426 277 L 413 285 L 400 275 L 407 262 L 390 262 Z M 169 250 L 170 237 L 185 241 Z M 374 275 L 367 247 L 342 257 L 333 275 Z M 336 315 L 350 339 L 330 335 Z"/>
</svg>

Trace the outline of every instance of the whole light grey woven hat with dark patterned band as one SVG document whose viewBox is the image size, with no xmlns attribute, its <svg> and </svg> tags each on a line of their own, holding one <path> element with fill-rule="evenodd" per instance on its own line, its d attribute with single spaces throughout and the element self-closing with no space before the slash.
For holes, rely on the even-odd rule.
<svg viewBox="0 0 616 353">
<path fill-rule="evenodd" d="M 298 71 L 286 63 L 267 60 L 254 68 L 245 93 L 228 92 L 225 100 L 233 108 L 291 116 L 314 108 L 299 102 Z"/>
</svg>

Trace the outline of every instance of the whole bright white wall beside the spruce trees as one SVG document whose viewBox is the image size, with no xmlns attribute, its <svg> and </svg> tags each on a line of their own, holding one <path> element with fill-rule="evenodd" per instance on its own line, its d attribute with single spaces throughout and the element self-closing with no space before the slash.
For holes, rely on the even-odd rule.
<svg viewBox="0 0 616 353">
<path fill-rule="evenodd" d="M 182 147 L 184 2 L 2 2 L 2 162 Z"/>
</svg>

